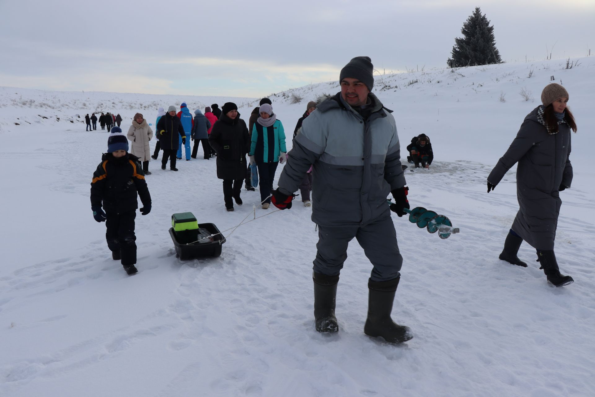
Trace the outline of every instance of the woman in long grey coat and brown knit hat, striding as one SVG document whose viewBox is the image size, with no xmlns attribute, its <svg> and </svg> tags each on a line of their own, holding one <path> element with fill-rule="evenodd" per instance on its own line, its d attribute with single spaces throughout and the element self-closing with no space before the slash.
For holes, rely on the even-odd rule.
<svg viewBox="0 0 595 397">
<path fill-rule="evenodd" d="M 554 240 L 560 213 L 560 191 L 572 182 L 570 130 L 577 124 L 568 108 L 568 92 L 559 84 L 547 85 L 541 102 L 525 117 L 508 151 L 487 177 L 487 191 L 502 180 L 516 162 L 516 198 L 519 211 L 506 236 L 500 260 L 527 267 L 517 257 L 522 240 L 537 250 L 538 261 L 550 285 L 560 287 L 574 280 L 560 274 Z"/>
</svg>

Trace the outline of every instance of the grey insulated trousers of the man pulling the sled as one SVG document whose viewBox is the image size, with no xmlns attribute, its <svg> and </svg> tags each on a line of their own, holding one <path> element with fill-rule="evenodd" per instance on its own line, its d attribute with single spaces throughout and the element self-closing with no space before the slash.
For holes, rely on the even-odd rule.
<svg viewBox="0 0 595 397">
<path fill-rule="evenodd" d="M 347 259 L 347 245 L 355 237 L 374 268 L 370 278 L 374 282 L 388 281 L 400 276 L 403 257 L 397 245 L 392 218 L 378 218 L 366 226 L 318 226 L 318 243 L 314 271 L 336 276 Z"/>
</svg>

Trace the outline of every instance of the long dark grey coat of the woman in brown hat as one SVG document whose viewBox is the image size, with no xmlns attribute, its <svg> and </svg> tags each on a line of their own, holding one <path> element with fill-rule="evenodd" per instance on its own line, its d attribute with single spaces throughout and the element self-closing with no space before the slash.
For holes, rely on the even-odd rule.
<svg viewBox="0 0 595 397">
<path fill-rule="evenodd" d="M 519 211 L 512 230 L 533 248 L 554 249 L 560 185 L 570 187 L 572 165 L 570 127 L 565 121 L 557 133 L 548 133 L 540 105 L 525 117 L 508 151 L 500 158 L 487 180 L 497 185 L 513 165 L 516 167 L 516 198 Z"/>
</svg>

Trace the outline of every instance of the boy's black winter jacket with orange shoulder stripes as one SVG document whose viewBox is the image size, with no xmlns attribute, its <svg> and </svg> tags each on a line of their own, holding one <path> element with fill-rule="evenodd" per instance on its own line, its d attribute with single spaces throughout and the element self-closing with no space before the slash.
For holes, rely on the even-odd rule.
<svg viewBox="0 0 595 397">
<path fill-rule="evenodd" d="M 105 153 L 91 182 L 91 207 L 104 207 L 105 212 L 123 212 L 139 208 L 137 195 L 143 206 L 151 205 L 151 195 L 139 158 L 127 153 L 115 158 Z"/>
</svg>

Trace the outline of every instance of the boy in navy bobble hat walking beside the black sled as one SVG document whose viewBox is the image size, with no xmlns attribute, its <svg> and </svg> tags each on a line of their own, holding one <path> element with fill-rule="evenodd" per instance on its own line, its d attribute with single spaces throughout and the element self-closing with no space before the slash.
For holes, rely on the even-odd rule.
<svg viewBox="0 0 595 397">
<path fill-rule="evenodd" d="M 139 158 L 129 154 L 126 135 L 120 127 L 112 128 L 105 153 L 91 182 L 93 218 L 107 227 L 105 239 L 114 260 L 121 263 L 128 274 L 137 272 L 134 218 L 138 208 L 137 195 L 143 215 L 151 212 L 151 195 Z M 102 210 L 103 207 L 103 210 Z M 105 212 L 104 212 L 105 210 Z"/>
</svg>

